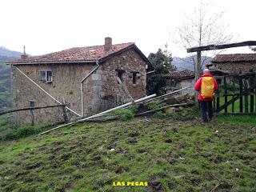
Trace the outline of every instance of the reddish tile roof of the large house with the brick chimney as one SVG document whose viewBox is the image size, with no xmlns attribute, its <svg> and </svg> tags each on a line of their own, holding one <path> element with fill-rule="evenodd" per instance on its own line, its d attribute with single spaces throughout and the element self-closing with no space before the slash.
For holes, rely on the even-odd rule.
<svg viewBox="0 0 256 192">
<path fill-rule="evenodd" d="M 96 60 L 106 58 L 111 54 L 117 53 L 129 46 L 134 45 L 134 42 L 122 43 L 112 45 L 110 52 L 106 52 L 103 46 L 86 46 L 74 47 L 68 50 L 62 50 L 51 54 L 44 54 L 40 56 L 19 58 L 9 64 L 34 64 L 34 63 L 47 63 L 47 62 L 95 62 Z"/>
</svg>

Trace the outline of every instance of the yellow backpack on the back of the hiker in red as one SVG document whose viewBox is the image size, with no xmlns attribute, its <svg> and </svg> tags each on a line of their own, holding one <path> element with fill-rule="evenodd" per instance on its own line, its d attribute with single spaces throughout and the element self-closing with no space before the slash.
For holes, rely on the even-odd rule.
<svg viewBox="0 0 256 192">
<path fill-rule="evenodd" d="M 214 78 L 202 77 L 201 95 L 202 98 L 214 97 Z"/>
</svg>

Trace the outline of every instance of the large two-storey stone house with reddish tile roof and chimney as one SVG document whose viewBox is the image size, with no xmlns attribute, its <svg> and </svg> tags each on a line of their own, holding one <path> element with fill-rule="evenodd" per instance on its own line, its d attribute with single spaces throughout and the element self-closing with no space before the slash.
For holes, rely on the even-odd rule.
<svg viewBox="0 0 256 192">
<path fill-rule="evenodd" d="M 134 42 L 75 47 L 8 62 L 13 81 L 13 107 L 68 103 L 69 118 L 96 114 L 146 96 L 146 73 L 154 70 Z M 118 82 L 118 78 L 122 83 Z M 35 122 L 60 122 L 59 108 L 34 110 Z M 30 122 L 29 111 L 14 114 L 18 123 Z"/>
</svg>

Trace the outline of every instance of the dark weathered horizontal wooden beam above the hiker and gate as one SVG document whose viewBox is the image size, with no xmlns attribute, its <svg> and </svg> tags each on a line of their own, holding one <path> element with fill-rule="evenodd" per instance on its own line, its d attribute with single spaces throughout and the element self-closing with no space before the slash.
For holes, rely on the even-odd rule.
<svg viewBox="0 0 256 192">
<path fill-rule="evenodd" d="M 238 46 L 256 46 L 256 41 L 246 41 L 246 42 L 235 42 L 230 44 L 223 44 L 223 45 L 208 45 L 208 46 L 195 46 L 188 48 L 186 50 L 187 53 L 202 51 L 202 50 L 222 50 L 232 47 Z"/>
</svg>

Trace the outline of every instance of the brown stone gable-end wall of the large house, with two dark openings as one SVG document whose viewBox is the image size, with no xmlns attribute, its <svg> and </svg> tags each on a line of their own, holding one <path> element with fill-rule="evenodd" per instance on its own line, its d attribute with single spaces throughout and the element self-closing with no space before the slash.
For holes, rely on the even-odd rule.
<svg viewBox="0 0 256 192">
<path fill-rule="evenodd" d="M 91 93 L 86 94 L 86 116 L 130 102 L 122 85 L 118 83 L 116 70 L 125 72 L 122 82 L 134 99 L 146 96 L 146 62 L 134 50 L 127 50 L 102 63 L 90 76 L 90 81 L 85 83 L 84 90 L 90 89 Z M 139 72 L 135 83 L 131 72 Z"/>
</svg>

